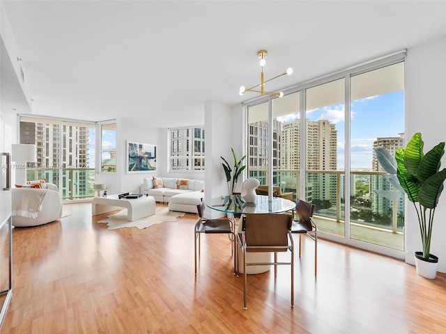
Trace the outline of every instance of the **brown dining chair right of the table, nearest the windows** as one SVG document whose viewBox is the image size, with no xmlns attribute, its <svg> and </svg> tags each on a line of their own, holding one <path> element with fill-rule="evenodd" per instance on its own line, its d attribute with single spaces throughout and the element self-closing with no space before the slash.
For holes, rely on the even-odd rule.
<svg viewBox="0 0 446 334">
<path fill-rule="evenodd" d="M 302 234 L 306 234 L 308 237 L 314 240 L 314 275 L 316 275 L 318 268 L 318 228 L 313 219 L 314 208 L 315 205 L 312 203 L 305 202 L 305 200 L 297 200 L 295 211 L 299 216 L 299 220 L 293 220 L 291 233 L 299 234 L 299 257 L 302 253 Z"/>
</svg>

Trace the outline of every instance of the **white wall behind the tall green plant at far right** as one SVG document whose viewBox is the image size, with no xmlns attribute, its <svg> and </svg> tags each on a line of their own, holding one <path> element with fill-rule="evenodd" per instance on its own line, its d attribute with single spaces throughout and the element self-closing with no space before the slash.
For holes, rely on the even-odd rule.
<svg viewBox="0 0 446 334">
<path fill-rule="evenodd" d="M 408 49 L 406 60 L 406 141 L 420 132 L 424 153 L 446 141 L 446 37 Z M 442 168 L 446 158 L 442 159 Z M 413 203 L 406 196 L 406 262 L 414 264 L 422 250 L 420 229 Z M 431 253 L 439 257 L 438 271 L 446 272 L 446 191 L 435 213 Z"/>
</svg>

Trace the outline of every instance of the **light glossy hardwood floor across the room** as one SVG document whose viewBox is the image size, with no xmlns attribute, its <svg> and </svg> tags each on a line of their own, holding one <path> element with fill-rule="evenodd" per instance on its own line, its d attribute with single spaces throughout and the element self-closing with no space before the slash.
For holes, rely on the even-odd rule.
<svg viewBox="0 0 446 334">
<path fill-rule="evenodd" d="M 159 205 L 159 204 L 157 204 Z M 446 275 L 436 280 L 389 257 L 304 238 L 289 266 L 233 276 L 225 235 L 201 238 L 194 276 L 194 223 L 107 230 L 91 205 L 13 230 L 13 298 L 0 333 L 446 333 Z M 296 242 L 298 241 L 296 237 Z"/>
</svg>

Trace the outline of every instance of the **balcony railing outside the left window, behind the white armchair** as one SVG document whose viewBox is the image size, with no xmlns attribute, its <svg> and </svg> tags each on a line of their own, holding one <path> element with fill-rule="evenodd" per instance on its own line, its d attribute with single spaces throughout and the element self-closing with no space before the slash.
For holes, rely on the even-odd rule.
<svg viewBox="0 0 446 334">
<path fill-rule="evenodd" d="M 28 168 L 26 170 L 26 180 L 40 179 L 59 186 L 63 200 L 95 196 L 94 168 Z"/>
</svg>

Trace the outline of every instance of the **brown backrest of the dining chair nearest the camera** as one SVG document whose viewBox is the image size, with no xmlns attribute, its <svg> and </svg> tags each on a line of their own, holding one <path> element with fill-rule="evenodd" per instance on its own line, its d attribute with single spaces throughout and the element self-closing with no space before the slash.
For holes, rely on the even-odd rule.
<svg viewBox="0 0 446 334">
<path fill-rule="evenodd" d="M 247 214 L 243 216 L 242 231 L 245 232 L 247 252 L 286 251 L 292 223 L 293 217 L 289 214 Z M 284 248 L 249 249 L 252 246 L 284 246 Z"/>
</svg>

